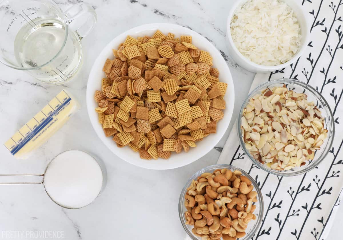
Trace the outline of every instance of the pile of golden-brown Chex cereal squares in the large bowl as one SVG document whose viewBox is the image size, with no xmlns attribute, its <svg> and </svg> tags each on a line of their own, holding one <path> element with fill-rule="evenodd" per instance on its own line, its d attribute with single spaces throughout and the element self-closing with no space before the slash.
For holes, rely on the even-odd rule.
<svg viewBox="0 0 343 240">
<path fill-rule="evenodd" d="M 94 100 L 114 144 L 128 145 L 142 159 L 168 159 L 216 133 L 227 84 L 191 36 L 159 30 L 151 37 L 127 36 L 113 55 Z"/>
</svg>

